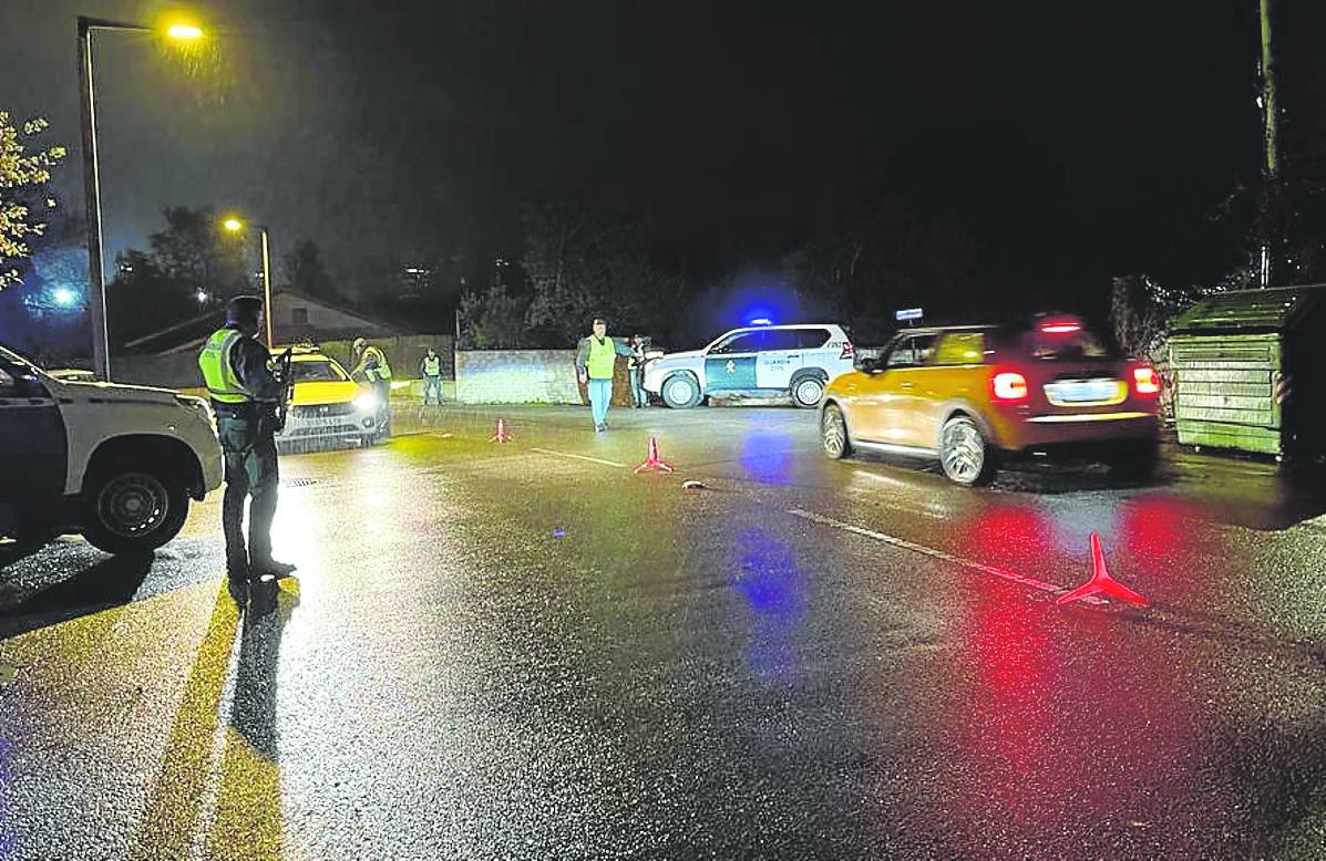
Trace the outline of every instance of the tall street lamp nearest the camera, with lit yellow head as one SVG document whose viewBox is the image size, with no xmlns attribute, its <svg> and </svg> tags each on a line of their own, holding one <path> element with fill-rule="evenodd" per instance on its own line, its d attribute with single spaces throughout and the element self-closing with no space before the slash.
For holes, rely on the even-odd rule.
<svg viewBox="0 0 1326 861">
<path fill-rule="evenodd" d="M 110 332 L 106 327 L 106 270 L 101 242 L 101 175 L 97 166 L 97 105 L 91 89 L 93 30 L 152 33 L 143 24 L 125 24 L 78 16 L 78 89 L 82 101 L 84 193 L 88 197 L 88 309 L 91 314 L 91 370 L 98 379 L 110 379 Z M 194 41 L 203 30 L 192 24 L 166 29 L 174 40 Z"/>
</svg>

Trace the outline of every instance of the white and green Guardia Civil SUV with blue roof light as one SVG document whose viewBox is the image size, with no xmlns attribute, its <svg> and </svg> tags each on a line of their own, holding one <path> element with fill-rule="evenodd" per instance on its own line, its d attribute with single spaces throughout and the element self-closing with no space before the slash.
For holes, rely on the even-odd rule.
<svg viewBox="0 0 1326 861">
<path fill-rule="evenodd" d="M 721 397 L 790 396 L 805 409 L 825 385 L 853 370 L 855 350 L 834 323 L 733 329 L 701 350 L 664 354 L 644 364 L 644 391 L 674 409 Z"/>
</svg>

